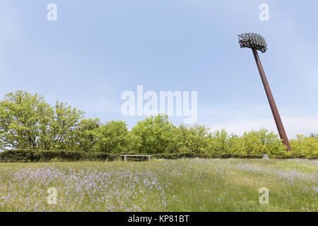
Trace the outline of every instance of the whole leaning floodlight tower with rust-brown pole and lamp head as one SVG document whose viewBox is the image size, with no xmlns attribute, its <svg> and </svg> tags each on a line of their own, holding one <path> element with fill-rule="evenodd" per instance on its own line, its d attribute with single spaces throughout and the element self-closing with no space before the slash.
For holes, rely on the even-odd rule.
<svg viewBox="0 0 318 226">
<path fill-rule="evenodd" d="M 262 53 L 266 52 L 267 44 L 265 42 L 265 39 L 263 36 L 255 34 L 255 33 L 245 33 L 242 35 L 238 35 L 238 37 L 239 37 L 239 43 L 241 48 L 247 47 L 252 49 L 255 61 L 257 63 L 257 68 L 259 69 L 259 74 L 261 75 L 261 81 L 263 82 L 267 99 L 269 100 L 269 105 L 271 106 L 271 112 L 273 112 L 273 117 L 276 122 L 279 136 L 281 136 L 283 143 L 287 146 L 287 150 L 290 151 L 291 148 L 290 148 L 288 137 L 286 135 L 286 132 L 283 126 L 283 122 L 281 121 L 281 117 L 279 116 L 278 109 L 273 99 L 273 95 L 271 94 L 271 88 L 269 88 L 269 83 L 265 76 L 263 66 L 261 66 L 261 60 L 259 59 L 259 54 L 257 54 L 257 50 L 261 51 Z"/>
</svg>

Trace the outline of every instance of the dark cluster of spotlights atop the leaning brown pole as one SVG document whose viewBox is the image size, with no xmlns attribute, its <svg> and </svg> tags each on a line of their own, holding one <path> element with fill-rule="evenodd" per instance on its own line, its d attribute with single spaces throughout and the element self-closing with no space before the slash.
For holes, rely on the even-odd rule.
<svg viewBox="0 0 318 226">
<path fill-rule="evenodd" d="M 241 48 L 251 48 L 260 50 L 262 53 L 266 52 L 267 44 L 263 36 L 256 33 L 245 33 L 239 35 L 239 43 Z"/>
</svg>

